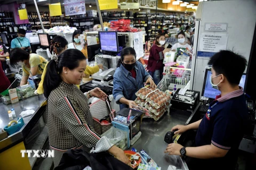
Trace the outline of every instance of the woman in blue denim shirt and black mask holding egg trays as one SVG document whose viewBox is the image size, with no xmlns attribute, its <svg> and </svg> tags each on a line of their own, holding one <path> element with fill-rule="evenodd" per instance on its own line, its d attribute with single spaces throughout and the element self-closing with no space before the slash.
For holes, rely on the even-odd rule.
<svg viewBox="0 0 256 170">
<path fill-rule="evenodd" d="M 121 52 L 121 59 L 118 62 L 114 74 L 113 96 L 120 109 L 135 104 L 135 92 L 144 87 L 143 82 L 156 87 L 152 77 L 144 69 L 143 65 L 136 61 L 136 53 L 132 47 L 126 47 Z"/>
</svg>

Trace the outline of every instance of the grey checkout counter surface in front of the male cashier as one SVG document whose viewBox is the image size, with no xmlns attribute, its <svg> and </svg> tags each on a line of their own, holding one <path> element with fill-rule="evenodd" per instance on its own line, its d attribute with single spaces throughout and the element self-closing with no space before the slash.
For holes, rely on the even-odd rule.
<svg viewBox="0 0 256 170">
<path fill-rule="evenodd" d="M 171 109 L 170 113 L 165 113 L 158 121 L 154 121 L 151 118 L 143 118 L 141 137 L 131 148 L 136 148 L 138 151 L 144 149 L 163 170 L 166 170 L 169 165 L 176 166 L 177 169 L 180 169 L 180 160 L 177 159 L 179 156 L 168 156 L 164 154 L 168 145 L 164 141 L 164 136 L 166 132 L 171 131 L 173 126 L 185 124 L 190 116 L 191 112 Z"/>
</svg>

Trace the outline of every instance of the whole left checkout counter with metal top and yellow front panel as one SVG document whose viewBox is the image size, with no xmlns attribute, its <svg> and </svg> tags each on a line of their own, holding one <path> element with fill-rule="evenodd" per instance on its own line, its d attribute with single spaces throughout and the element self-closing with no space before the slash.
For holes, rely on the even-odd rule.
<svg viewBox="0 0 256 170">
<path fill-rule="evenodd" d="M 31 164 L 34 165 L 34 160 L 28 159 L 27 156 L 25 156 L 25 158 L 21 157 L 20 150 L 31 149 L 25 148 L 24 141 L 29 137 L 31 134 L 30 131 L 45 112 L 45 101 L 46 99 L 43 95 L 37 95 L 25 99 L 24 103 L 22 100 L 10 105 L 0 103 L 0 128 L 2 129 L 10 122 L 7 111 L 11 108 L 14 108 L 17 116 L 14 120 L 16 121 L 22 111 L 26 109 L 33 109 L 35 111 L 33 115 L 23 117 L 25 125 L 22 126 L 20 131 L 0 141 L 0 169 L 19 169 L 20 167 L 22 167 L 22 169 L 31 169 Z M 46 132 L 47 134 L 47 129 L 44 128 L 42 132 Z M 15 160 L 15 164 L 10 161 L 10 158 Z"/>
</svg>

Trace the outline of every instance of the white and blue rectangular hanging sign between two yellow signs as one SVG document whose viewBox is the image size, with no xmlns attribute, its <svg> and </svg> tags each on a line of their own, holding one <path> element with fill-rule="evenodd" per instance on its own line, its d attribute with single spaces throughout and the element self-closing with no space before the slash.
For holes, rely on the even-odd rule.
<svg viewBox="0 0 256 170">
<path fill-rule="evenodd" d="M 86 13 L 84 0 L 64 0 L 64 7 L 66 15 L 79 15 Z"/>
</svg>

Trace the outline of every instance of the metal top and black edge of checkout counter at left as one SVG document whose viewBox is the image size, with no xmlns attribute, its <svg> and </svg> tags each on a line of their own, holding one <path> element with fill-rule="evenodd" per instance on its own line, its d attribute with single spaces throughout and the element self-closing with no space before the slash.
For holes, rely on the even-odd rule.
<svg viewBox="0 0 256 170">
<path fill-rule="evenodd" d="M 6 126 L 10 122 L 7 111 L 9 111 L 11 108 L 14 108 L 15 114 L 17 116 L 14 118 L 15 121 L 18 120 L 18 117 L 22 111 L 26 111 L 28 109 L 33 109 L 35 111 L 33 115 L 23 117 L 25 125 L 21 128 L 19 132 L 9 135 L 8 138 L 0 141 L 0 152 L 5 147 L 14 145 L 15 142 L 17 143 L 24 137 L 26 138 L 27 133 L 29 133 L 29 131 L 33 128 L 33 125 L 36 123 L 35 121 L 38 120 L 39 117 L 41 117 L 42 114 L 38 114 L 38 111 L 41 109 L 41 106 L 45 100 L 46 98 L 44 97 L 44 95 L 36 95 L 29 97 L 24 101 L 20 100 L 19 102 L 10 105 L 0 103 L 0 128 L 2 129 L 4 129 L 4 126 Z"/>
</svg>

